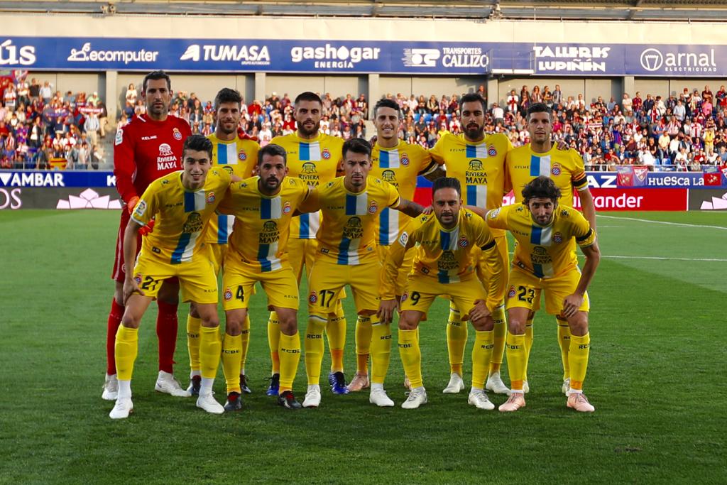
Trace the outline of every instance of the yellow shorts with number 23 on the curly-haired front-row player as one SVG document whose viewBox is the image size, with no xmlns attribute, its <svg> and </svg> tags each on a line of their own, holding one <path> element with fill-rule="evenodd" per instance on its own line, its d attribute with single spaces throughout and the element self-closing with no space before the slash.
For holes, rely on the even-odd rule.
<svg viewBox="0 0 727 485">
<path fill-rule="evenodd" d="M 510 270 L 506 308 L 540 308 L 540 292 L 545 292 L 545 311 L 551 315 L 560 315 L 563 311 L 563 300 L 573 294 L 581 278 L 581 272 L 574 269 L 554 278 L 537 278 L 518 268 Z M 581 311 L 588 311 L 590 302 L 588 292 L 583 297 Z"/>
</svg>

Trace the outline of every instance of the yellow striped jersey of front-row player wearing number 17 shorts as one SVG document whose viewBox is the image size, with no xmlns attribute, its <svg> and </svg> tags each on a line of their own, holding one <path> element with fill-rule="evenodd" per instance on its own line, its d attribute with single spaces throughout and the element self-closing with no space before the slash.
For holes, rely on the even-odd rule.
<svg viewBox="0 0 727 485">
<path fill-rule="evenodd" d="M 336 259 L 339 265 L 359 265 L 377 261 L 376 223 L 381 210 L 399 205 L 399 193 L 390 183 L 366 177 L 366 188 L 349 192 L 337 177 L 318 188 L 316 207 L 320 207 L 318 252 Z"/>
</svg>

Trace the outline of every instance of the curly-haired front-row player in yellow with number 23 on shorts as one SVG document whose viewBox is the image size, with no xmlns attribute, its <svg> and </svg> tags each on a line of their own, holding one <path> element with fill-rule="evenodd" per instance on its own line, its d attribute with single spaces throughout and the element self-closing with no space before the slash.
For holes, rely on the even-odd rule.
<svg viewBox="0 0 727 485">
<path fill-rule="evenodd" d="M 518 242 L 507 292 L 507 369 L 512 393 L 499 410 L 513 412 L 525 406 L 525 325 L 542 291 L 547 313 L 565 318 L 571 331 L 567 405 L 593 412 L 583 394 L 583 381 L 590 348 L 586 290 L 601 259 L 595 230 L 576 209 L 558 204 L 561 190 L 547 175 L 526 184 L 522 195 L 522 204 L 494 209 L 485 216 L 491 228 L 507 229 Z M 585 254 L 582 272 L 571 241 Z"/>
</svg>

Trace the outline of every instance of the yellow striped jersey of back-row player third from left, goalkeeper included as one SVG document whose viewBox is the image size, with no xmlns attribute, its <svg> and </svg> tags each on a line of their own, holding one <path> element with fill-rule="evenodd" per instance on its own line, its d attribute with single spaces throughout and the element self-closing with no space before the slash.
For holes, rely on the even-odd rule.
<svg viewBox="0 0 727 485">
<path fill-rule="evenodd" d="M 343 139 L 319 133 L 315 138 L 301 138 L 297 132 L 275 137 L 270 143 L 285 148 L 288 177 L 297 177 L 308 185 L 318 187 L 336 178 L 336 170 L 342 159 Z M 321 223 L 318 212 L 294 217 L 290 225 L 290 237 L 316 239 Z"/>
</svg>

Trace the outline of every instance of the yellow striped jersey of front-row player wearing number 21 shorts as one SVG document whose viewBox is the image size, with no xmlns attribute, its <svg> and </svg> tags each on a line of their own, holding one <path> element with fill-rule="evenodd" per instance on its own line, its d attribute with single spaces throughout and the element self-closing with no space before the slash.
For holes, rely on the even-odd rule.
<svg viewBox="0 0 727 485">
<path fill-rule="evenodd" d="M 156 218 L 154 230 L 142 239 L 142 250 L 168 258 L 172 264 L 193 260 L 204 244 L 206 225 L 225 196 L 230 174 L 209 169 L 204 187 L 188 191 L 182 171 L 172 172 L 151 183 L 139 199 L 132 219 L 146 225 Z"/>
</svg>

